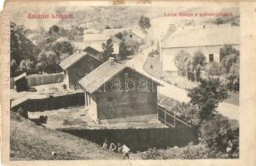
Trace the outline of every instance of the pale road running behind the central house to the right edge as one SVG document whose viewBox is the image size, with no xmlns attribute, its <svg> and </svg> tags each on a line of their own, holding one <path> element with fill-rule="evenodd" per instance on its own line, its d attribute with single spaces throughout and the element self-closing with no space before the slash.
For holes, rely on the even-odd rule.
<svg viewBox="0 0 256 166">
<path fill-rule="evenodd" d="M 151 76 L 149 73 L 144 71 L 144 64 L 145 60 L 148 56 L 148 54 L 152 51 L 152 47 L 146 48 L 141 53 L 138 53 L 134 56 L 133 59 L 126 62 L 127 66 L 130 66 L 135 71 L 139 71 L 143 75 L 149 77 L 153 81 L 157 81 L 160 83 L 161 86 L 158 87 L 158 93 L 161 95 L 165 95 L 167 97 L 170 97 L 171 99 L 178 100 L 180 102 L 189 102 L 190 98 L 187 96 L 187 91 L 184 89 L 180 89 L 179 87 L 175 85 L 170 85 L 169 83 L 165 81 L 161 81 L 158 78 L 155 78 L 154 76 Z M 222 102 L 219 104 L 217 111 L 226 117 L 229 117 L 229 119 L 232 120 L 239 120 L 239 106 L 232 105 L 229 103 Z"/>
</svg>

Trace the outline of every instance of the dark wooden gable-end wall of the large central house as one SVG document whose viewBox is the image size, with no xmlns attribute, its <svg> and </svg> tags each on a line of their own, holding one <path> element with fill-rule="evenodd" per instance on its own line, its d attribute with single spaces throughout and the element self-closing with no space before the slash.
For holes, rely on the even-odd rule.
<svg viewBox="0 0 256 166">
<path fill-rule="evenodd" d="M 116 88 L 113 90 L 116 79 L 121 81 L 121 91 L 117 91 Z M 135 90 L 127 91 L 128 79 L 135 81 Z M 147 84 L 147 91 L 141 90 L 141 79 Z M 128 68 L 121 71 L 94 95 L 96 95 L 99 119 L 156 114 L 157 87 L 155 82 Z"/>
</svg>

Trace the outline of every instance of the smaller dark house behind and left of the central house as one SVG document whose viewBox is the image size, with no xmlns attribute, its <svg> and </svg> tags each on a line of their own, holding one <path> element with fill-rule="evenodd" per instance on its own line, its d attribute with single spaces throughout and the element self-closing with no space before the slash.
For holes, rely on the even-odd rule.
<svg viewBox="0 0 256 166">
<path fill-rule="evenodd" d="M 60 63 L 64 71 L 64 83 L 67 87 L 76 87 L 78 81 L 93 71 L 97 66 L 100 66 L 101 54 L 98 51 L 78 50 L 66 60 Z"/>
</svg>

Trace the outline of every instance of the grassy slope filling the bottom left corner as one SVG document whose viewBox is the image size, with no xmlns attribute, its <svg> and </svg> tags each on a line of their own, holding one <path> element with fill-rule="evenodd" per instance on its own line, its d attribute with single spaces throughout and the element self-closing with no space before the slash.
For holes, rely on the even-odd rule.
<svg viewBox="0 0 256 166">
<path fill-rule="evenodd" d="M 35 125 L 11 113 L 11 160 L 121 159 L 98 144 L 71 134 Z M 56 155 L 52 155 L 56 152 Z"/>
</svg>

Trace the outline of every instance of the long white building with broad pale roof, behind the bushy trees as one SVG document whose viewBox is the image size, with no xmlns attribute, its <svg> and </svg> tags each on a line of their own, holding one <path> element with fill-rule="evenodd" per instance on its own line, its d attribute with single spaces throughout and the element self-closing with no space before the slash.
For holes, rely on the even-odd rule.
<svg viewBox="0 0 256 166">
<path fill-rule="evenodd" d="M 206 56 L 207 62 L 219 62 L 219 49 L 224 45 L 239 49 L 239 27 L 212 25 L 177 28 L 160 46 L 163 71 L 178 71 L 175 55 L 180 51 L 188 52 L 191 56 L 200 51 Z"/>
</svg>

